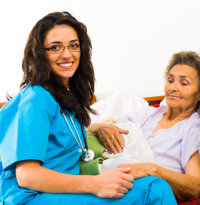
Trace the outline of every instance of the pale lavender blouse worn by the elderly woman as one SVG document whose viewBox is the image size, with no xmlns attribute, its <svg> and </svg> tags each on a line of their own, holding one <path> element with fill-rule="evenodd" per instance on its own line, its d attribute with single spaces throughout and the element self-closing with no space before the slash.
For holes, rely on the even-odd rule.
<svg viewBox="0 0 200 205">
<path fill-rule="evenodd" d="M 173 127 L 160 129 L 152 134 L 166 111 L 166 105 L 159 108 L 147 106 L 138 112 L 119 116 L 115 120 L 118 123 L 125 121 L 139 123 L 154 153 L 155 163 L 166 169 L 185 173 L 188 160 L 198 150 L 200 115 L 195 112 L 190 118 L 176 123 Z"/>
</svg>

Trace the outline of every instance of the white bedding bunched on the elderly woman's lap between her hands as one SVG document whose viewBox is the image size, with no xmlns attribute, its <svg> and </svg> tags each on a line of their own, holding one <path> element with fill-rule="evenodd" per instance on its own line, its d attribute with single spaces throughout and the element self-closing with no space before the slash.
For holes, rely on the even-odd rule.
<svg viewBox="0 0 200 205">
<path fill-rule="evenodd" d="M 154 163 L 153 152 L 145 140 L 143 131 L 138 123 L 128 121 L 117 123 L 116 126 L 123 130 L 129 130 L 127 135 L 123 135 L 125 146 L 123 152 L 117 154 L 110 154 L 107 151 L 103 153 L 108 159 L 103 161 L 102 171 L 115 168 L 120 164 Z"/>
</svg>

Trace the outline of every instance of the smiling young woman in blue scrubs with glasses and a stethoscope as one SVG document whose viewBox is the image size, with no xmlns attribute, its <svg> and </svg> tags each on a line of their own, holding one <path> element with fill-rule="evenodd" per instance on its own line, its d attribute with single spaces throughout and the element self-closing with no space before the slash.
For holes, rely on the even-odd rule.
<svg viewBox="0 0 200 205">
<path fill-rule="evenodd" d="M 20 93 L 0 111 L 2 204 L 176 204 L 160 178 L 143 178 L 132 189 L 129 168 L 79 175 L 80 157 L 87 161 L 93 154 L 84 129 L 88 112 L 94 112 L 91 42 L 84 24 L 68 12 L 39 20 L 22 67 Z"/>
</svg>

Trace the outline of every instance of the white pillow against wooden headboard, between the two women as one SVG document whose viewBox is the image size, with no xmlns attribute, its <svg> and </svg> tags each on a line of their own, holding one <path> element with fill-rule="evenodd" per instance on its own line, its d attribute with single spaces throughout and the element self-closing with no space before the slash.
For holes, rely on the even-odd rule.
<svg viewBox="0 0 200 205">
<path fill-rule="evenodd" d="M 132 110 L 137 111 L 144 106 L 148 106 L 148 102 L 143 98 L 128 90 L 119 91 L 91 106 L 98 113 L 97 115 L 90 114 L 91 123 L 102 121 L 105 118 L 115 118 Z"/>
</svg>

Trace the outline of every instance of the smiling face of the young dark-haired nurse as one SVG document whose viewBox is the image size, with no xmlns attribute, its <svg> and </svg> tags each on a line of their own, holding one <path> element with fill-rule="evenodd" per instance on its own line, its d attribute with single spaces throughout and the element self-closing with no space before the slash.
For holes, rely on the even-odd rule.
<svg viewBox="0 0 200 205">
<path fill-rule="evenodd" d="M 69 79 L 79 66 L 81 51 L 76 51 L 76 49 L 73 51 L 77 45 L 79 46 L 77 32 L 73 27 L 65 24 L 56 25 L 50 29 L 44 40 L 44 47 L 51 49 L 46 52 L 52 71 L 60 77 L 65 85 L 68 85 Z M 51 52 L 59 46 L 65 46 L 63 52 Z"/>
</svg>

